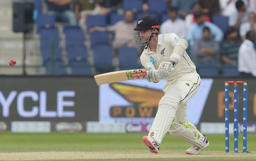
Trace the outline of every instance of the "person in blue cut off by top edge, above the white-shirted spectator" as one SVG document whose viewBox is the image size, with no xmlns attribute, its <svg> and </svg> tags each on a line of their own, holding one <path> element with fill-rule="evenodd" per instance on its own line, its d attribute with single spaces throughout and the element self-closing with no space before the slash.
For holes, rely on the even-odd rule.
<svg viewBox="0 0 256 161">
<path fill-rule="evenodd" d="M 198 0 L 172 0 L 172 6 L 178 8 L 179 14 L 185 19 L 185 17 L 193 13 L 193 4 Z"/>
</svg>

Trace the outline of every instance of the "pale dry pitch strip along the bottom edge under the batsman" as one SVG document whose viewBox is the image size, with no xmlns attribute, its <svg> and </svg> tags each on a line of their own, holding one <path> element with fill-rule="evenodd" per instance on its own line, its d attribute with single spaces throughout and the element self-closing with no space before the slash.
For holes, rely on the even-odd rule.
<svg viewBox="0 0 256 161">
<path fill-rule="evenodd" d="M 160 154 L 152 154 L 148 150 L 137 151 L 90 151 L 90 152 L 16 152 L 0 153 L 0 160 L 74 160 L 74 159 L 142 159 L 142 158 L 240 158 L 241 160 L 256 158 L 256 153 L 243 154 L 223 151 L 202 151 L 199 155 L 188 155 L 182 151 L 162 150 Z M 219 160 L 218 159 L 218 160 Z"/>
</svg>

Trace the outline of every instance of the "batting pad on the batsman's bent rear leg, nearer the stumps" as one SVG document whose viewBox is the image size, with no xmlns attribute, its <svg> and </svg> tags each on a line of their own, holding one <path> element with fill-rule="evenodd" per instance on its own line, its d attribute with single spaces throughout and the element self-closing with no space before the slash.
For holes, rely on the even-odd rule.
<svg viewBox="0 0 256 161">
<path fill-rule="evenodd" d="M 204 143 L 196 138 L 195 134 L 193 133 L 193 130 L 196 133 L 198 132 L 198 130 L 196 129 L 196 127 L 194 125 L 193 125 L 192 129 L 189 129 L 177 122 L 173 122 L 169 129 L 169 133 L 181 138 L 182 140 L 187 141 L 188 143 L 190 143 L 192 145 L 196 145 L 199 148 L 202 148 L 204 146 Z"/>
</svg>

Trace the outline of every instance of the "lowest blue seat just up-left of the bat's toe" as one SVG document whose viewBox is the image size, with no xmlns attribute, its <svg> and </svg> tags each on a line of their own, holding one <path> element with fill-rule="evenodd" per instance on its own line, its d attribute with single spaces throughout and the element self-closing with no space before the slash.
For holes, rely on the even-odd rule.
<svg viewBox="0 0 256 161">
<path fill-rule="evenodd" d="M 69 62 L 69 64 L 72 69 L 72 74 L 92 74 L 91 65 L 85 59 L 73 60 Z"/>
</svg>

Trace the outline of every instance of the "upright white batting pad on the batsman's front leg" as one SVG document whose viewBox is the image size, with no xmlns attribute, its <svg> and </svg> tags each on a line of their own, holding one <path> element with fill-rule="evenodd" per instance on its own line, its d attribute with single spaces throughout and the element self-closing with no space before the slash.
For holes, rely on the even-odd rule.
<svg viewBox="0 0 256 161">
<path fill-rule="evenodd" d="M 153 137 L 159 144 L 162 142 L 164 134 L 172 124 L 179 103 L 180 89 L 175 85 L 170 85 L 158 104 L 158 111 L 148 137 Z"/>
</svg>

